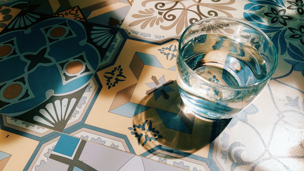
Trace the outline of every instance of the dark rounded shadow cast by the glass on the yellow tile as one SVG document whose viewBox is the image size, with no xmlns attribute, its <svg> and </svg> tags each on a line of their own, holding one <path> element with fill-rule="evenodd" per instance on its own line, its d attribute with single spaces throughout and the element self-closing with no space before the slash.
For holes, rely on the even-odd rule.
<svg viewBox="0 0 304 171">
<path fill-rule="evenodd" d="M 162 145 L 190 155 L 206 147 L 204 152 L 208 154 L 210 142 L 219 135 L 216 129 L 223 122 L 195 116 L 183 104 L 176 81 L 170 87 L 174 91 L 166 92 L 168 100 L 163 96 L 155 98 L 153 93 L 141 100 L 140 104 L 150 108 L 141 113 L 142 108 L 136 108 L 140 114 L 133 117 L 131 134 L 138 138 L 138 145 L 147 150 Z"/>
</svg>

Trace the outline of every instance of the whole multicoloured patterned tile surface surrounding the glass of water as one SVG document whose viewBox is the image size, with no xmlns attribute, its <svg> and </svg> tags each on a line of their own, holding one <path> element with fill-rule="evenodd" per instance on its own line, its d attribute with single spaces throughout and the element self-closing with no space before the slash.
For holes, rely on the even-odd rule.
<svg viewBox="0 0 304 171">
<path fill-rule="evenodd" d="M 0 170 L 303 170 L 302 9 L 299 0 L 0 2 Z M 212 122 L 181 103 L 175 60 L 186 26 L 216 15 L 261 28 L 279 60 L 257 101 Z"/>
</svg>

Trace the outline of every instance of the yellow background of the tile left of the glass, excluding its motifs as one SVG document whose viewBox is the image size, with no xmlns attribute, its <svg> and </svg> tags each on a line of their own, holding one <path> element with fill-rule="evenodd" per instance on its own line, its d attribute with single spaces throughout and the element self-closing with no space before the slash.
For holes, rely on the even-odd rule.
<svg viewBox="0 0 304 171">
<path fill-rule="evenodd" d="M 181 98 L 178 94 L 176 83 L 169 85 L 174 90 L 167 92 L 170 99 L 169 101 L 164 99 L 163 96 L 160 96 L 157 101 L 155 101 L 154 94 L 145 94 L 147 90 L 151 89 L 146 84 L 153 82 L 151 75 L 155 76 L 157 79 L 160 79 L 164 75 L 165 81 L 176 80 L 175 71 L 168 70 L 168 68 L 171 68 L 175 65 L 175 58 L 171 61 L 167 60 L 166 56 L 161 54 L 158 50 L 162 47 L 169 47 L 172 44 L 177 44 L 177 41 L 174 40 L 164 45 L 154 45 L 130 39 L 126 40 L 126 43 L 122 48 L 116 63 L 111 67 L 97 72 L 99 80 L 104 87 L 100 91 L 85 123 L 126 135 L 130 140 L 130 143 L 136 154 L 142 154 L 143 152 L 146 152 L 147 150 L 154 148 L 157 145 L 164 145 L 170 148 L 179 149 L 181 151 L 190 152 L 198 156 L 208 157 L 212 122 L 203 122 L 200 119 L 195 118 L 192 134 L 188 134 L 167 128 L 166 125 L 164 125 L 164 122 L 161 120 L 157 111 L 154 109 L 157 108 L 164 111 L 169 111 L 171 113 L 178 113 Z M 130 69 L 130 63 L 133 58 L 135 58 L 134 56 L 136 55 L 136 52 L 147 53 L 156 56 L 157 60 L 165 69 L 144 65 L 142 71 L 136 71 L 141 72 L 140 75 L 138 75 L 138 73 L 133 73 L 134 68 L 133 71 Z M 140 63 L 137 64 L 140 65 Z M 126 80 L 118 82 L 115 87 L 110 87 L 110 89 L 108 89 L 106 85 L 107 81 L 103 75 L 106 72 L 112 72 L 112 70 L 114 70 L 114 67 L 118 67 L 119 65 L 121 65 L 121 68 L 123 69 L 122 72 L 123 75 L 126 76 Z M 136 76 L 138 77 L 138 81 L 136 79 Z M 132 96 L 130 97 L 129 101 L 135 104 L 150 106 L 152 108 L 147 109 L 146 111 L 132 118 L 109 112 L 111 105 L 113 105 L 112 103 L 114 103 L 114 98 L 118 96 L 116 93 L 121 90 L 126 90 L 126 88 L 130 86 L 135 86 L 135 88 L 134 91 L 132 91 Z M 127 94 L 125 95 L 128 96 Z M 127 100 L 123 98 L 120 98 L 119 100 L 121 101 L 115 101 L 116 104 L 114 105 L 119 106 L 127 102 Z M 164 103 L 166 105 L 161 105 Z M 192 117 L 192 119 L 194 118 Z M 145 137 L 142 137 L 140 139 L 140 144 L 138 144 L 138 138 L 135 137 L 135 135 L 131 134 L 131 131 L 133 131 L 133 129 L 130 130 L 128 128 L 132 128 L 133 125 L 144 125 L 144 122 L 146 120 L 148 120 L 145 124 L 146 129 L 142 130 L 141 128 L 136 128 L 136 133 L 143 133 L 143 135 L 153 137 L 154 133 L 152 134 L 152 132 L 146 131 L 150 126 L 151 121 L 151 127 L 155 128 L 155 130 L 158 130 L 159 135 L 161 135 L 163 138 L 159 138 L 157 141 L 147 141 L 145 145 L 142 145 L 144 143 Z M 189 122 L 190 121 L 191 119 L 189 119 Z"/>
</svg>

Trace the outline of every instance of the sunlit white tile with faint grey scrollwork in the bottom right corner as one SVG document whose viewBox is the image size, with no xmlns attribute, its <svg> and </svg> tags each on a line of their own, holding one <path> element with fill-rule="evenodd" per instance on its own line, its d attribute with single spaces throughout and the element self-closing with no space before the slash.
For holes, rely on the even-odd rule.
<svg viewBox="0 0 304 171">
<path fill-rule="evenodd" d="M 292 87 L 279 87 L 271 80 L 263 97 L 222 127 L 215 152 L 224 169 L 304 169 L 304 99 Z"/>
</svg>

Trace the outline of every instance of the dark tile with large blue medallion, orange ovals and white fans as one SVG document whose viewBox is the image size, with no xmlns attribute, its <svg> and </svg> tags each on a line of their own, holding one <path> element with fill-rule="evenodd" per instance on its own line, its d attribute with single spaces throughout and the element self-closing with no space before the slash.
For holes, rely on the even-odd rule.
<svg viewBox="0 0 304 171">
<path fill-rule="evenodd" d="M 1 36 L 0 47 L 8 48 L 1 55 L 1 73 L 7 74 L 0 81 L 0 112 L 62 131 L 85 104 L 83 94 L 91 92 L 91 78 L 113 39 L 111 34 L 97 34 L 107 34 L 109 28 L 87 26 L 77 20 L 19 13 Z"/>
</svg>

